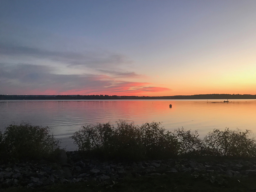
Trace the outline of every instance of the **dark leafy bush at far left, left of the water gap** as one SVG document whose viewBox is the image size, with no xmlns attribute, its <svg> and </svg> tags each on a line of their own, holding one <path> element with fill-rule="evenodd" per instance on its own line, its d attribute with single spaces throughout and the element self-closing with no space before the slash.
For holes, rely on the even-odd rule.
<svg viewBox="0 0 256 192">
<path fill-rule="evenodd" d="M 0 135 L 0 153 L 6 159 L 47 157 L 60 144 L 50 134 L 49 127 L 32 126 L 28 123 L 9 125 Z"/>
</svg>

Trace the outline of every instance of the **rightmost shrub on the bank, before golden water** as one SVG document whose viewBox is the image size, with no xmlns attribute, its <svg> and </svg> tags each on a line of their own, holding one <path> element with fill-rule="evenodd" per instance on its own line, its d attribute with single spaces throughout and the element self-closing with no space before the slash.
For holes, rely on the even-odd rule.
<svg viewBox="0 0 256 192">
<path fill-rule="evenodd" d="M 252 131 L 214 129 L 203 140 L 204 154 L 212 156 L 255 157 L 256 141 L 249 138 Z"/>
</svg>

